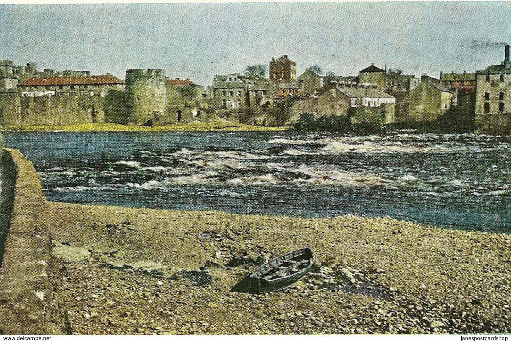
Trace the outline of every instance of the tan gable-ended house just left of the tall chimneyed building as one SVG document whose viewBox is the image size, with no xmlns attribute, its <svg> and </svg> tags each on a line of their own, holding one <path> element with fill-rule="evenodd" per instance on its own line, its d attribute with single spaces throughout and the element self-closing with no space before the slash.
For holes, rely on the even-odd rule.
<svg viewBox="0 0 511 341">
<path fill-rule="evenodd" d="M 408 107 L 399 112 L 400 122 L 433 122 L 451 107 L 452 91 L 440 85 L 440 80 L 422 76 L 421 83 L 410 90 L 405 102 Z"/>
</svg>

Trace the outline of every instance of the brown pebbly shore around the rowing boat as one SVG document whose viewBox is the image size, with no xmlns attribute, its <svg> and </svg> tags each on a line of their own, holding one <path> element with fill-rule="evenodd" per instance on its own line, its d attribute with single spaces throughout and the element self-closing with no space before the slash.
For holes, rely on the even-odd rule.
<svg viewBox="0 0 511 341">
<path fill-rule="evenodd" d="M 43 219 L 74 334 L 511 332 L 506 234 L 53 202 Z M 306 245 L 316 266 L 292 287 L 231 291 Z"/>
</svg>

